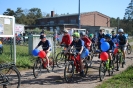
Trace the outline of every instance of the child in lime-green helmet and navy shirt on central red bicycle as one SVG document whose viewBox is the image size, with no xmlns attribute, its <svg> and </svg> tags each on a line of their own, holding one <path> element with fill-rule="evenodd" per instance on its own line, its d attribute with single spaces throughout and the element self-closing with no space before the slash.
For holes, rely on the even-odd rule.
<svg viewBox="0 0 133 88">
<path fill-rule="evenodd" d="M 74 46 L 76 48 L 76 51 L 80 55 L 80 76 L 84 76 L 84 71 L 83 71 L 83 60 L 88 56 L 89 52 L 87 52 L 87 49 L 84 46 L 84 41 L 80 39 L 80 34 L 75 32 L 73 34 L 73 41 L 68 47 L 68 49 L 65 51 L 65 53 L 68 52 L 68 50 L 71 49 L 71 47 Z"/>
</svg>

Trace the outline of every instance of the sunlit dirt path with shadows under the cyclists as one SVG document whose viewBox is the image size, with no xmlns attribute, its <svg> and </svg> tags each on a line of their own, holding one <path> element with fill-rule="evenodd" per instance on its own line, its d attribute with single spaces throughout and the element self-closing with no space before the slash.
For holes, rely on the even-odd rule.
<svg viewBox="0 0 133 88">
<path fill-rule="evenodd" d="M 115 71 L 115 74 L 120 73 L 129 65 L 133 64 L 132 59 L 133 54 L 127 55 L 125 67 L 120 68 L 120 71 Z M 99 81 L 98 76 L 99 63 L 100 60 L 95 57 L 87 77 L 81 78 L 77 75 L 74 77 L 74 83 L 65 83 L 63 79 L 63 68 L 55 67 L 54 72 L 51 73 L 47 73 L 44 70 L 43 74 L 37 79 L 34 78 L 32 70 L 22 71 L 21 88 L 94 88 L 96 85 L 102 83 Z M 105 80 L 108 78 L 110 77 L 106 76 Z"/>
</svg>

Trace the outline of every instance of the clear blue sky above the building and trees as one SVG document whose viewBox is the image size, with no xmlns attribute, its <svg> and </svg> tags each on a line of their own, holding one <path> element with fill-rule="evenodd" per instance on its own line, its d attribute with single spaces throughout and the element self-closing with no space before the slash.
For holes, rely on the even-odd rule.
<svg viewBox="0 0 133 88">
<path fill-rule="evenodd" d="M 7 8 L 16 10 L 40 8 L 44 13 L 52 10 L 57 14 L 78 13 L 79 0 L 0 0 L 0 14 L 2 15 Z M 124 17 L 125 9 L 131 0 L 80 0 L 80 12 L 98 11 L 110 17 Z"/>
</svg>

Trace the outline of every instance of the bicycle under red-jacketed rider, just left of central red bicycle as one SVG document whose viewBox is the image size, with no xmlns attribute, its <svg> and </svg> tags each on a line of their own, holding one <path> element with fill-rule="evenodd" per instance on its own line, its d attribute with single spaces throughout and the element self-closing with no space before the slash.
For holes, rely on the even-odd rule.
<svg viewBox="0 0 133 88">
<path fill-rule="evenodd" d="M 66 50 L 66 47 L 65 45 L 61 45 L 61 48 L 63 49 L 61 50 L 61 52 L 57 54 L 55 59 L 56 61 L 55 63 L 59 68 L 64 67 L 66 63 L 66 55 L 64 55 L 64 51 Z"/>
</svg>

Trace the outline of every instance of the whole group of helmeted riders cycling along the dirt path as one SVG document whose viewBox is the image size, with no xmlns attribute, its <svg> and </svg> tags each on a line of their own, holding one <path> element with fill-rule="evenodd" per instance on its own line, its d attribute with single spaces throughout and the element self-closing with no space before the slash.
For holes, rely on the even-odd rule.
<svg viewBox="0 0 133 88">
<path fill-rule="evenodd" d="M 74 32 L 74 34 L 72 35 L 73 40 L 71 40 L 68 30 L 63 30 L 63 33 L 64 33 L 64 36 L 60 44 L 64 44 L 65 47 L 67 48 L 65 51 L 65 54 L 68 53 L 69 50 L 74 46 L 76 49 L 76 52 L 80 55 L 80 66 L 81 66 L 80 76 L 84 76 L 83 60 L 86 57 L 88 57 L 89 51 L 91 50 L 91 46 L 93 44 L 97 44 L 98 49 L 101 50 L 100 40 L 102 38 L 105 38 L 105 40 L 110 45 L 109 50 L 106 51 L 109 54 L 109 59 L 112 59 L 110 51 L 116 47 L 115 44 L 118 43 L 120 46 L 122 46 L 122 52 L 124 55 L 123 63 L 125 63 L 125 50 L 126 50 L 127 38 L 124 36 L 123 29 L 119 29 L 118 34 L 116 34 L 114 31 L 112 31 L 112 34 L 104 34 L 103 30 L 100 30 L 97 37 L 96 35 L 93 35 L 93 34 L 90 34 L 89 36 L 87 36 L 85 32 L 81 32 L 81 33 Z M 36 48 L 38 48 L 39 46 L 42 46 L 43 50 L 46 52 L 46 54 L 48 54 L 46 56 L 46 59 L 48 60 L 48 57 L 51 51 L 50 42 L 49 40 L 46 39 L 46 35 L 44 34 L 40 35 L 40 39 L 41 41 L 39 42 Z M 48 60 L 48 64 L 49 64 L 49 60 Z"/>
</svg>

